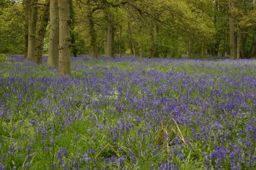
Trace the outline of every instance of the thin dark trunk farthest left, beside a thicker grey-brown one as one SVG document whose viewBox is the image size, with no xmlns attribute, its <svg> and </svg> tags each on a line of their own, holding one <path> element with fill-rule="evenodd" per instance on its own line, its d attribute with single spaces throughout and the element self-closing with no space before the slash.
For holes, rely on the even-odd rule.
<svg viewBox="0 0 256 170">
<path fill-rule="evenodd" d="M 24 56 L 27 58 L 28 55 L 28 46 L 29 46 L 29 17 L 31 9 L 29 7 L 29 0 L 23 0 L 23 10 L 25 12 L 25 23 L 24 23 L 24 38 L 25 38 L 25 47 L 24 47 Z"/>
</svg>

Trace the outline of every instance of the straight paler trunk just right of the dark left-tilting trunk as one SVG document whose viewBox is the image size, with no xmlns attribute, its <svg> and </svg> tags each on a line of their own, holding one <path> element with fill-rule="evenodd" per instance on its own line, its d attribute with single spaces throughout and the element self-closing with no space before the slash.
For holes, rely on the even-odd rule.
<svg viewBox="0 0 256 170">
<path fill-rule="evenodd" d="M 107 29 L 106 42 L 105 42 L 106 57 L 112 56 L 112 40 L 113 40 L 113 26 L 112 26 L 112 23 L 108 20 L 108 29 Z"/>
</svg>

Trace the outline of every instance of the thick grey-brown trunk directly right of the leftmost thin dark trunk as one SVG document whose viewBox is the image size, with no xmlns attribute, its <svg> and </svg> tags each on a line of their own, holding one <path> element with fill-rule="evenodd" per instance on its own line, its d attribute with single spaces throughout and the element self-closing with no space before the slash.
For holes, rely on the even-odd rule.
<svg viewBox="0 0 256 170">
<path fill-rule="evenodd" d="M 36 55 L 36 26 L 37 26 L 37 1 L 31 0 L 31 13 L 29 16 L 29 42 L 27 61 L 34 61 Z"/>
</svg>

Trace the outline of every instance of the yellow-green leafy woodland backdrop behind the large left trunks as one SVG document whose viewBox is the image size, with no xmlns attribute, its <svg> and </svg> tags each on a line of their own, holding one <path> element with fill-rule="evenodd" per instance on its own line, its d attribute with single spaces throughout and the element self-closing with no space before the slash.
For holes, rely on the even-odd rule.
<svg viewBox="0 0 256 170">
<path fill-rule="evenodd" d="M 0 53 L 26 53 L 26 1 L 0 1 Z M 29 2 L 30 9 L 39 11 L 46 3 Z M 71 55 L 176 58 L 187 53 L 192 58 L 231 51 L 230 58 L 256 57 L 252 0 L 70 0 L 69 4 Z M 42 14 L 36 17 L 38 33 Z M 47 54 L 50 22 L 45 27 Z"/>
</svg>

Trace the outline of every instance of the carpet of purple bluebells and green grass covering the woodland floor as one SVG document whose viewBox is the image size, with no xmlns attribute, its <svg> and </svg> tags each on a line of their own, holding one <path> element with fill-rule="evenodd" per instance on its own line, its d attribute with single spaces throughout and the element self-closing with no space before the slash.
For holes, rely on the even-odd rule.
<svg viewBox="0 0 256 170">
<path fill-rule="evenodd" d="M 256 61 L 0 63 L 1 169 L 255 169 Z"/>
</svg>

